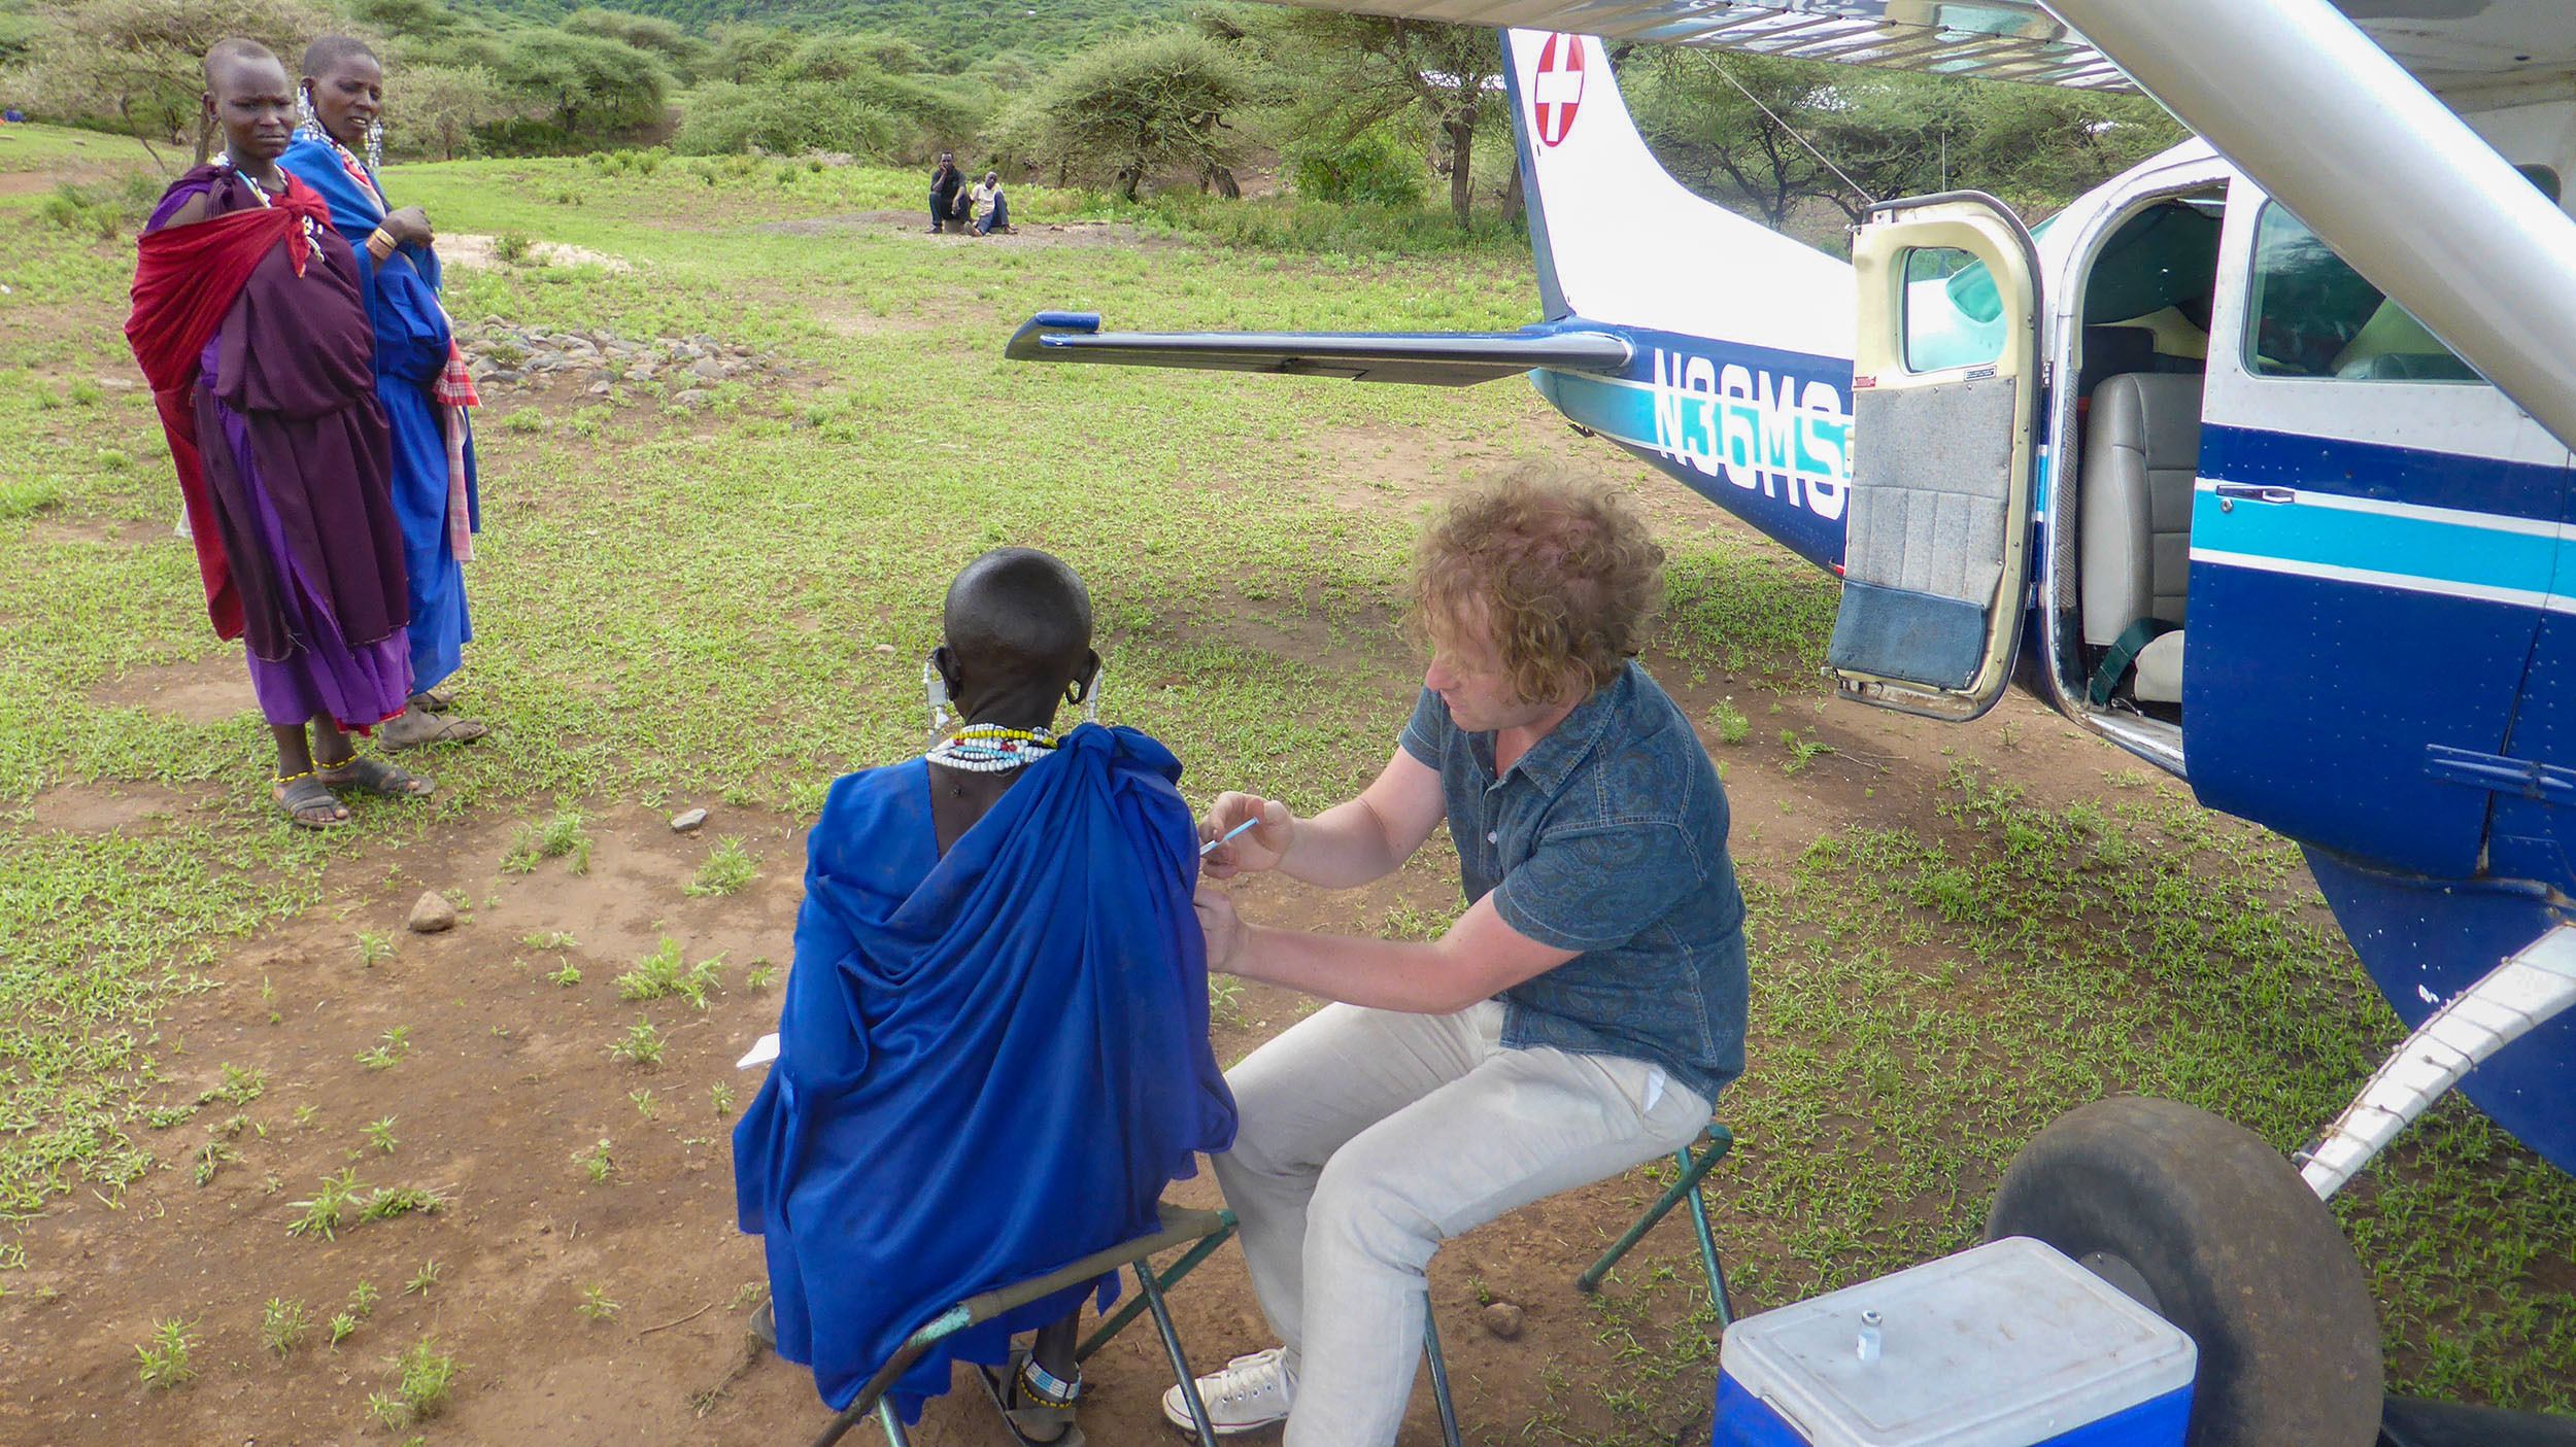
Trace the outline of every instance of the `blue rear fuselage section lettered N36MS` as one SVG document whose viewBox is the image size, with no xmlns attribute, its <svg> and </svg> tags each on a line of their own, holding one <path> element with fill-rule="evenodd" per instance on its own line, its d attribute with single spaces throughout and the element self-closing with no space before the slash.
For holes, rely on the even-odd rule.
<svg viewBox="0 0 2576 1447">
<path fill-rule="evenodd" d="M 1574 422 L 1631 448 L 1816 566 L 1842 561 L 1852 487 L 1852 363 L 1643 327 L 1620 376 L 1533 371 Z"/>
</svg>

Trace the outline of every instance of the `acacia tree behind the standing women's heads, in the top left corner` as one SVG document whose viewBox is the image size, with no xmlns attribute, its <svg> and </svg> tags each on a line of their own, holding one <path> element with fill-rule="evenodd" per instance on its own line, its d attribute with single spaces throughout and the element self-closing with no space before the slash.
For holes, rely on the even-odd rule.
<svg viewBox="0 0 2576 1447">
<path fill-rule="evenodd" d="M 294 72 L 304 41 L 335 28 L 345 21 L 307 0 L 72 0 L 28 46 L 28 90 L 41 113 L 111 124 L 147 152 L 193 134 L 204 165 L 216 134 L 201 103 L 206 49 L 245 36 Z"/>
</svg>

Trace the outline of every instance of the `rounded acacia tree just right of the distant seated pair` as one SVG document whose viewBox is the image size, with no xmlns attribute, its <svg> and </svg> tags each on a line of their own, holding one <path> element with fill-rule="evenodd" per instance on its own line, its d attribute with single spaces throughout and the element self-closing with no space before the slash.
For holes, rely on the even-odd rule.
<svg viewBox="0 0 2576 1447">
<path fill-rule="evenodd" d="M 1128 201 L 1162 170 L 1231 191 L 1242 139 L 1226 116 L 1252 100 L 1231 49 L 1188 28 L 1154 31 L 1069 57 L 994 126 L 994 142 L 1059 178 L 1108 180 Z"/>
</svg>

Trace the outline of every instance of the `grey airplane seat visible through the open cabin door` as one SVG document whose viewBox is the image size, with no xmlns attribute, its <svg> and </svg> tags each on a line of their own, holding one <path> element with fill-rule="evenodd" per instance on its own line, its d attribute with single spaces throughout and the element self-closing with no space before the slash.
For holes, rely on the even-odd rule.
<svg viewBox="0 0 2576 1447">
<path fill-rule="evenodd" d="M 2172 626 L 2138 651 L 2130 693 L 2141 703 L 2182 703 L 2200 386 L 2192 373 L 2112 376 L 2094 389 L 2084 420 L 2076 512 L 2084 641 L 2107 649 L 2143 618 Z"/>
</svg>

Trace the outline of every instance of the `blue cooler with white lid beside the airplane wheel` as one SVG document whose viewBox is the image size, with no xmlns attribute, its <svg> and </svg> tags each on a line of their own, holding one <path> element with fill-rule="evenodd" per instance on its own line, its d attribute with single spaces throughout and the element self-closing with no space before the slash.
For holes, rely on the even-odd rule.
<svg viewBox="0 0 2576 1447">
<path fill-rule="evenodd" d="M 1726 1329 L 1713 1447 L 2182 1447 L 2200 1354 L 2027 1236 Z"/>
</svg>

